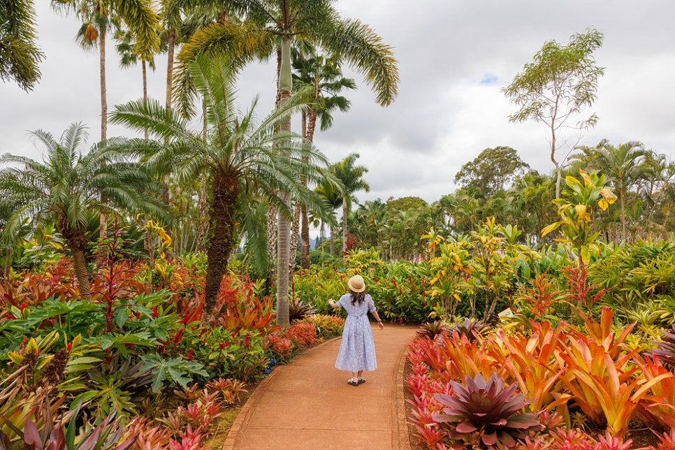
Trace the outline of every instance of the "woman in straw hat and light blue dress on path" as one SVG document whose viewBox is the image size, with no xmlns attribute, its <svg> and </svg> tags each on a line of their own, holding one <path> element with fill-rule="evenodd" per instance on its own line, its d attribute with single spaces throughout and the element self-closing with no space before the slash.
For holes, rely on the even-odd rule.
<svg viewBox="0 0 675 450">
<path fill-rule="evenodd" d="M 337 354 L 335 367 L 340 370 L 349 370 L 351 378 L 347 383 L 350 386 L 358 386 L 365 383 L 365 378 L 361 377 L 363 370 L 377 368 L 375 342 L 372 340 L 368 312 L 370 311 L 375 317 L 380 330 L 384 330 L 384 325 L 377 315 L 372 297 L 365 293 L 363 277 L 354 275 L 349 278 L 347 286 L 349 286 L 349 293 L 340 297 L 337 303 L 332 298 L 328 300 L 333 308 L 343 307 L 347 311 L 347 320 L 344 322 L 342 331 L 342 344 L 340 344 L 340 353 Z"/>
</svg>

